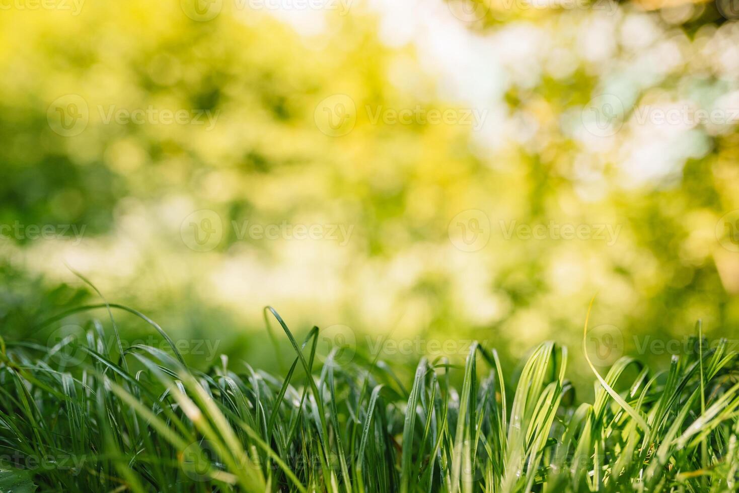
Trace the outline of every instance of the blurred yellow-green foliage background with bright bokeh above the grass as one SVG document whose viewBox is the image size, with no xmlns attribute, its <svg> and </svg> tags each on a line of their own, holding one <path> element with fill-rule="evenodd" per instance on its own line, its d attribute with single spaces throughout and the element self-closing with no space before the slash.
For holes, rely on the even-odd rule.
<svg viewBox="0 0 739 493">
<path fill-rule="evenodd" d="M 74 269 L 202 365 L 279 369 L 265 305 L 347 361 L 555 339 L 588 380 L 595 294 L 604 368 L 688 351 L 698 319 L 736 337 L 735 18 L 734 0 L 0 0 L 1 334 L 85 330 L 39 328 L 101 303 Z M 151 334 L 115 316 L 126 342 Z"/>
</svg>

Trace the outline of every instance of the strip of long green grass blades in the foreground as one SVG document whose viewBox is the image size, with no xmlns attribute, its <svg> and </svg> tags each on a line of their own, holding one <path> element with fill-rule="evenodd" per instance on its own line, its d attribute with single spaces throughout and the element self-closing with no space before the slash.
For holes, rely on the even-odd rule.
<svg viewBox="0 0 739 493">
<path fill-rule="evenodd" d="M 51 348 L 0 339 L 1 492 L 737 489 L 738 365 L 725 341 L 699 335 L 698 351 L 656 373 L 628 357 L 605 376 L 590 365 L 595 397 L 577 403 L 553 342 L 517 382 L 477 344 L 463 367 L 420 357 L 403 382 L 361 351 L 350 365 L 336 364 L 342 348 L 319 358 L 318 328 L 299 341 L 267 308 L 294 349 L 286 374 L 225 356 L 204 373 L 143 314 L 103 307 L 112 349 L 94 320 Z M 113 309 L 171 349 L 123 345 Z"/>
</svg>

